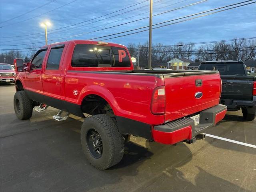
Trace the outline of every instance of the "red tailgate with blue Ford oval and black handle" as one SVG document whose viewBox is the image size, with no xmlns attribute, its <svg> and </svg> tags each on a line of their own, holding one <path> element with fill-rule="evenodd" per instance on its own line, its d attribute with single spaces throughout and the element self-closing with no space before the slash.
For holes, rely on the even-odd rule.
<svg viewBox="0 0 256 192">
<path fill-rule="evenodd" d="M 165 122 L 195 114 L 219 103 L 220 74 L 184 75 L 165 77 Z M 201 82 L 201 84 L 200 84 Z"/>
</svg>

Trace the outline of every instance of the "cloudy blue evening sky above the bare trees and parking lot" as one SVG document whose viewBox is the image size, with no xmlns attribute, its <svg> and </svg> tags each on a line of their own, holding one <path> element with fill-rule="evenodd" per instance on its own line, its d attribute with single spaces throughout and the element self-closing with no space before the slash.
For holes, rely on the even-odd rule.
<svg viewBox="0 0 256 192">
<path fill-rule="evenodd" d="M 200 1 L 202 0 L 154 0 L 153 15 Z M 244 0 L 208 0 L 154 16 L 153 24 L 242 1 Z M 148 12 L 149 1 L 145 0 L 0 0 L 0 49 L 28 48 L 28 45 L 19 44 L 31 43 L 36 43 L 38 47 L 43 46 L 44 28 L 40 23 L 46 20 L 52 23 L 52 26 L 48 27 L 48 43 L 54 43 L 71 39 L 86 40 L 148 26 L 149 20 L 146 18 L 100 30 L 148 17 Z M 92 32 L 95 30 L 100 31 Z M 124 34 L 127 33 L 119 35 Z M 206 42 L 255 36 L 256 4 L 254 3 L 154 29 L 152 41 L 153 44 L 171 45 L 178 42 Z M 106 38 L 111 37 L 114 36 Z M 148 31 L 105 41 L 127 45 L 138 42 L 143 44 L 147 40 Z"/>
</svg>

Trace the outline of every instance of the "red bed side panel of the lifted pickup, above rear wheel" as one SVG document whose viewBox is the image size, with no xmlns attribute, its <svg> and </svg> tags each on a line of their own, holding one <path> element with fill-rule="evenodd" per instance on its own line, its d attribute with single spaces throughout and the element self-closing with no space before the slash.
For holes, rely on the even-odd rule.
<svg viewBox="0 0 256 192">
<path fill-rule="evenodd" d="M 164 115 L 153 115 L 150 110 L 153 90 L 161 85 L 164 85 L 163 78 L 155 76 L 68 71 L 65 101 L 80 105 L 86 95 L 96 94 L 110 104 L 116 116 L 146 124 L 162 124 Z"/>
</svg>

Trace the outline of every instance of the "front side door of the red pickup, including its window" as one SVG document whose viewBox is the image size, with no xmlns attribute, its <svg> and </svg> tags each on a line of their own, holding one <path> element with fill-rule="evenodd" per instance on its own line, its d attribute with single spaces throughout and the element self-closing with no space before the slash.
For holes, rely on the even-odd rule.
<svg viewBox="0 0 256 192">
<path fill-rule="evenodd" d="M 42 67 L 45 61 L 47 48 L 38 50 L 31 60 L 30 70 L 25 73 L 26 93 L 29 98 L 44 102 L 42 85 Z"/>
</svg>

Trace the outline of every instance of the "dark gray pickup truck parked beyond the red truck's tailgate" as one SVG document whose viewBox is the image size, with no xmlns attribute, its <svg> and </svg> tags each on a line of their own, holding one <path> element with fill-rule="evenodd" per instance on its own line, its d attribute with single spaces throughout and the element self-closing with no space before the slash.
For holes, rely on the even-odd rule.
<svg viewBox="0 0 256 192">
<path fill-rule="evenodd" d="M 256 76 L 248 76 L 242 61 L 201 62 L 198 70 L 218 70 L 222 80 L 220 104 L 229 111 L 242 108 L 244 119 L 254 120 L 256 116 Z"/>
</svg>

